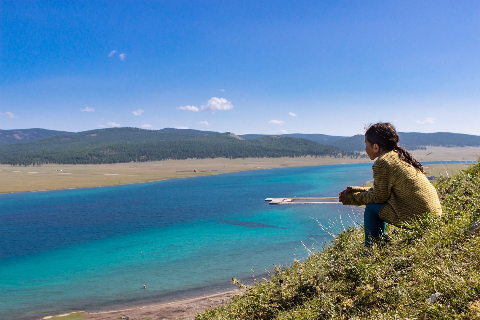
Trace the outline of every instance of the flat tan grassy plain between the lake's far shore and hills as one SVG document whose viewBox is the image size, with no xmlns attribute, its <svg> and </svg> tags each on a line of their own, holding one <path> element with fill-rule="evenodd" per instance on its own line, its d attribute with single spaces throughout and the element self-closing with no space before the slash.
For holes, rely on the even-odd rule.
<svg viewBox="0 0 480 320">
<path fill-rule="evenodd" d="M 419 161 L 477 160 L 480 147 L 428 147 L 412 154 Z M 243 170 L 289 166 L 322 166 L 372 162 L 370 159 L 335 157 L 185 159 L 106 165 L 9 166 L 0 165 L 0 193 L 71 188 L 102 187 L 119 184 L 151 182 Z M 197 171 L 194 171 L 197 170 Z"/>
</svg>

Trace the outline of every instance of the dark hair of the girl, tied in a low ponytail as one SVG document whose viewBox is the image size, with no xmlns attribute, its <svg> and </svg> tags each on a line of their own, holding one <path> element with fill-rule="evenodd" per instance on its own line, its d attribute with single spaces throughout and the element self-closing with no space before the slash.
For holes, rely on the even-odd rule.
<svg viewBox="0 0 480 320">
<path fill-rule="evenodd" d="M 400 160 L 414 166 L 421 173 L 423 172 L 423 166 L 417 161 L 407 150 L 398 146 L 398 134 L 395 131 L 395 127 L 390 122 L 379 122 L 371 124 L 365 128 L 365 138 L 372 144 L 378 144 L 380 148 L 385 150 L 393 150 L 398 154 Z"/>
</svg>

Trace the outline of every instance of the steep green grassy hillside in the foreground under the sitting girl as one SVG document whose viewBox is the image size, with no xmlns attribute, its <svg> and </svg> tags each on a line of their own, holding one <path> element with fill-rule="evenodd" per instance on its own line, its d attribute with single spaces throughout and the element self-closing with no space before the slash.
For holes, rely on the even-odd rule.
<svg viewBox="0 0 480 320">
<path fill-rule="evenodd" d="M 435 186 L 443 215 L 389 226 L 365 257 L 363 230 L 349 227 L 252 286 L 233 279 L 246 292 L 196 319 L 480 319 L 480 236 L 468 232 L 480 219 L 480 165 Z"/>
</svg>

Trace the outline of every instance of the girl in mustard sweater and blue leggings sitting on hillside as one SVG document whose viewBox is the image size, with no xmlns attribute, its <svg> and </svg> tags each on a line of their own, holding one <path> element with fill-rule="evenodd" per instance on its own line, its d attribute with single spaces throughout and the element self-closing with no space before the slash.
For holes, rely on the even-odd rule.
<svg viewBox="0 0 480 320">
<path fill-rule="evenodd" d="M 437 191 L 423 175 L 423 166 L 399 147 L 395 127 L 388 122 L 371 125 L 365 132 L 365 152 L 374 160 L 373 188 L 347 187 L 338 201 L 344 205 L 366 205 L 365 246 L 383 237 L 385 225 L 401 226 L 423 214 L 442 213 Z"/>
</svg>

